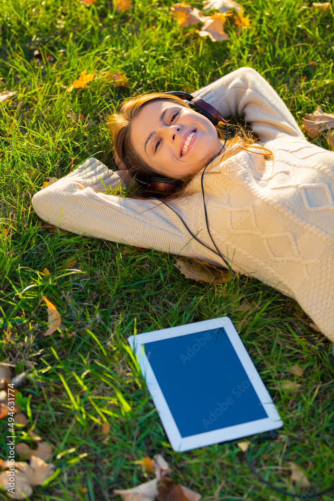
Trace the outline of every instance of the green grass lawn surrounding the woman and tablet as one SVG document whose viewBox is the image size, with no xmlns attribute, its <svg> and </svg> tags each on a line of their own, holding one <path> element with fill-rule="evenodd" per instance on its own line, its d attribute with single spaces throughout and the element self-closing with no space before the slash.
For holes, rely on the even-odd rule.
<svg viewBox="0 0 334 501">
<path fill-rule="evenodd" d="M 29 375 L 21 391 L 30 397 L 31 425 L 53 445 L 58 468 L 31 500 L 116 499 L 113 488 L 145 481 L 133 461 L 154 453 L 162 453 L 175 478 L 204 500 L 290 499 L 253 475 L 238 440 L 174 452 L 126 349 L 127 336 L 135 332 L 224 315 L 233 319 L 284 421 L 277 441 L 253 449 L 254 464 L 276 486 L 293 490 L 289 472 L 272 468 L 280 459 L 285 467 L 296 462 L 311 482 L 300 492 L 314 493 L 334 477 L 334 377 L 327 357 L 331 343 L 309 327 L 298 304 L 251 279 L 219 286 L 188 281 L 172 256 L 155 250 L 140 253 L 110 241 L 50 233 L 31 197 L 48 176 L 68 174 L 72 158 L 73 168 L 90 155 L 113 167 L 106 117 L 125 96 L 142 91 L 191 92 L 251 66 L 299 124 L 317 105 L 333 113 L 332 7 L 242 1 L 250 28 L 236 35 L 227 22 L 230 40 L 213 43 L 200 39 L 194 26 L 177 27 L 171 0 L 134 4 L 124 14 L 110 0 L 89 8 L 74 0 L 1 4 L 0 92 L 17 94 L 0 104 L 0 359 L 9 357 L 17 373 Z M 37 49 L 54 60 L 42 68 L 33 59 Z M 67 92 L 83 70 L 97 78 L 86 89 Z M 109 71 L 124 72 L 130 87 L 115 87 L 103 77 Z M 67 117 L 70 110 L 85 120 L 75 124 Z M 314 142 L 328 148 L 324 135 Z M 70 259 L 77 263 L 69 269 Z M 243 287 L 259 309 L 244 309 Z M 47 338 L 42 296 L 57 307 L 65 327 Z M 302 377 L 289 371 L 293 364 L 304 369 Z M 300 383 L 300 389 L 283 391 L 283 380 Z M 110 424 L 108 435 L 101 433 L 102 419 Z M 0 427 L 6 457 L 6 419 Z M 26 432 L 19 435 L 18 441 L 31 440 Z M 333 500 L 334 491 L 322 499 Z"/>
</svg>

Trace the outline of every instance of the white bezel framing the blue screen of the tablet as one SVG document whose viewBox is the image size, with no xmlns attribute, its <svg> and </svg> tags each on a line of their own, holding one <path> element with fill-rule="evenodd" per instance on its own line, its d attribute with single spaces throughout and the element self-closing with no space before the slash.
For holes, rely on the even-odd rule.
<svg viewBox="0 0 334 501">
<path fill-rule="evenodd" d="M 187 334 L 195 334 L 210 329 L 218 329 L 220 327 L 224 328 L 268 417 L 182 438 L 145 354 L 144 345 L 145 343 L 178 336 L 186 336 Z M 152 396 L 170 444 L 175 451 L 183 452 L 206 445 L 212 445 L 214 443 L 234 440 L 255 433 L 277 429 L 283 425 L 276 407 L 229 317 L 220 317 L 212 320 L 204 320 L 203 322 L 195 322 L 193 324 L 137 334 L 135 336 L 130 336 L 128 342 L 137 356 L 148 390 Z"/>
</svg>

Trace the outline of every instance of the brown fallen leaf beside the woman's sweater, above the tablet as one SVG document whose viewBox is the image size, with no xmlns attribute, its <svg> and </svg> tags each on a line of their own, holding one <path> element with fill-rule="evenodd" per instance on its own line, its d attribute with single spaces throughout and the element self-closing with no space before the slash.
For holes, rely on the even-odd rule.
<svg viewBox="0 0 334 501">
<path fill-rule="evenodd" d="M 209 284 L 224 284 L 231 278 L 228 272 L 218 270 L 215 266 L 210 266 L 207 263 L 197 260 L 189 262 L 177 259 L 175 266 L 185 278 L 207 282 Z"/>
</svg>

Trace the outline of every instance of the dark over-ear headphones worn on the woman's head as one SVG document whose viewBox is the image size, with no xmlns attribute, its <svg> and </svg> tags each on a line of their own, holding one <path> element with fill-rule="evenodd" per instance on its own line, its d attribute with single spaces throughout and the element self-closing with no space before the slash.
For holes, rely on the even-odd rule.
<svg viewBox="0 0 334 501">
<path fill-rule="evenodd" d="M 164 92 L 164 94 L 171 94 L 173 96 L 177 96 L 184 100 L 184 102 L 194 111 L 204 115 L 210 122 L 216 126 L 218 122 L 223 122 L 226 125 L 226 120 L 224 120 L 220 112 L 216 110 L 209 103 L 204 101 L 199 97 L 193 97 L 188 92 L 183 91 L 169 91 Z M 227 129 L 226 129 L 226 137 L 227 137 Z M 138 177 L 136 174 L 129 172 L 132 178 L 137 181 L 138 184 L 142 188 L 145 188 L 147 191 L 161 192 L 161 193 L 175 193 L 180 186 L 180 181 L 178 179 L 172 179 L 170 177 L 165 177 L 161 175 L 150 175 L 147 176 L 147 179 L 143 179 Z"/>
</svg>

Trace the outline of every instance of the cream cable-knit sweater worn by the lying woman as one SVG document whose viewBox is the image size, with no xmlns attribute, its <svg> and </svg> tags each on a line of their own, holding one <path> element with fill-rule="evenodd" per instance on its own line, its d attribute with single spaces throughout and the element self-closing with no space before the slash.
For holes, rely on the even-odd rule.
<svg viewBox="0 0 334 501">
<path fill-rule="evenodd" d="M 241 151 L 206 169 L 209 227 L 231 267 L 294 298 L 334 342 L 334 153 L 310 144 L 270 85 L 240 68 L 196 92 L 223 117 L 241 116 L 271 150 Z M 168 202 L 211 248 L 200 174 L 186 196 Z M 44 220 L 78 234 L 154 247 L 223 266 L 155 200 L 101 192 L 119 176 L 94 158 L 33 196 Z M 148 210 L 150 209 L 150 210 Z"/>
</svg>

